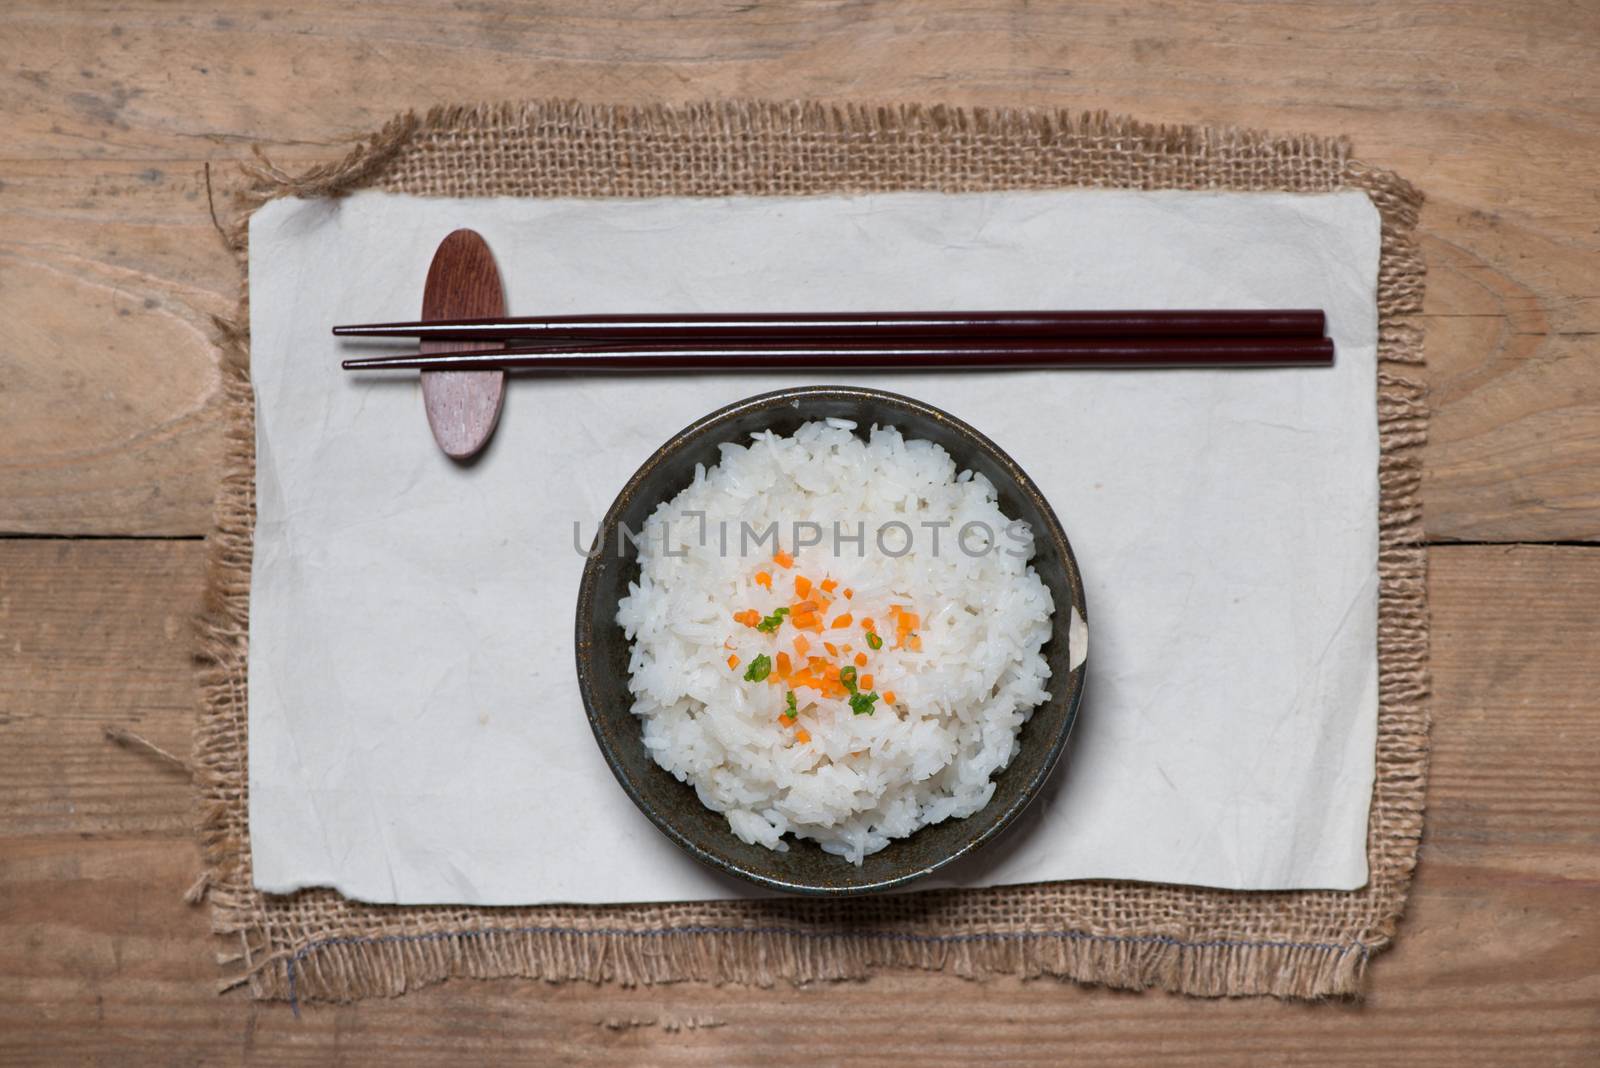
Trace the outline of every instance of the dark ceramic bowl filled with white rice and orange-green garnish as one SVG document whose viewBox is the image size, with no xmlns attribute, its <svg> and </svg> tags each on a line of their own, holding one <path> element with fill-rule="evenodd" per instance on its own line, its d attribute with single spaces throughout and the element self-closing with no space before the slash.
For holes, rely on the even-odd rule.
<svg viewBox="0 0 1600 1068">
<path fill-rule="evenodd" d="M 861 894 L 994 839 L 1083 694 L 1083 584 L 989 438 L 802 387 L 661 446 L 600 524 L 578 681 L 622 790 L 696 859 Z"/>
</svg>

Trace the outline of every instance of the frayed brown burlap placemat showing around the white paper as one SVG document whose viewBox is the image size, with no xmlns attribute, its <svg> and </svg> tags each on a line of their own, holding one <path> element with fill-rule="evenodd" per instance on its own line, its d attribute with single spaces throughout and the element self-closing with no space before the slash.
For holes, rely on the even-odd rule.
<svg viewBox="0 0 1600 1068">
<path fill-rule="evenodd" d="M 254 428 L 243 309 L 222 323 L 227 464 L 202 635 L 195 750 L 224 986 L 258 998 L 398 994 L 451 975 L 771 983 L 880 967 L 1062 975 L 1189 994 L 1358 993 L 1394 938 L 1416 865 L 1427 774 L 1427 606 L 1418 488 L 1427 409 L 1398 365 L 1422 361 L 1421 197 L 1342 141 L 1149 126 L 1064 112 L 722 102 L 541 102 L 405 115 L 338 165 L 251 168 L 243 209 L 278 195 L 384 189 L 440 197 L 694 197 L 886 190 L 1365 190 L 1382 214 L 1378 777 L 1371 881 L 1355 892 L 1227 892 L 1048 883 L 858 900 L 645 907 L 373 907 L 333 891 L 256 892 L 246 820 L 245 664 Z M 234 243 L 243 256 L 240 222 Z"/>
</svg>

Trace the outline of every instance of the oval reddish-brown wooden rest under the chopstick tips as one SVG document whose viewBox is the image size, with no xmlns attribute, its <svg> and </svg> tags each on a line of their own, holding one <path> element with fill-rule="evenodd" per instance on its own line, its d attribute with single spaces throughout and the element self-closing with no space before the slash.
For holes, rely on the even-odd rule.
<svg viewBox="0 0 1600 1068">
<path fill-rule="evenodd" d="M 475 318 L 506 313 L 494 253 L 477 230 L 456 230 L 434 253 L 422 288 L 422 318 Z M 475 342 L 424 341 L 422 352 L 478 349 Z M 499 422 L 504 371 L 424 371 L 422 408 L 434 441 L 454 460 L 477 456 Z"/>
</svg>

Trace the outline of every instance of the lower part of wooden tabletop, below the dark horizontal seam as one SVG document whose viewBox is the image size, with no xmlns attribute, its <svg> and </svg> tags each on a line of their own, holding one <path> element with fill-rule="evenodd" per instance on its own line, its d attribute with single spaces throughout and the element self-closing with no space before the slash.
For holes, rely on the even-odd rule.
<svg viewBox="0 0 1600 1068">
<path fill-rule="evenodd" d="M 1600 550 L 1430 552 L 1429 827 L 1365 1004 L 1194 1001 L 894 974 L 803 990 L 453 982 L 397 1001 L 216 996 L 181 903 L 198 855 L 170 747 L 192 679 L 168 627 L 198 542 L 0 540 L 0 1063 L 1589 1065 L 1600 1057 Z M 168 624 L 166 620 L 174 620 Z M 82 660 L 82 664 L 78 664 Z M 26 710 L 26 715 L 18 715 Z M 18 783 L 18 785 L 11 785 Z M 123 804 L 130 811 L 117 812 Z"/>
</svg>

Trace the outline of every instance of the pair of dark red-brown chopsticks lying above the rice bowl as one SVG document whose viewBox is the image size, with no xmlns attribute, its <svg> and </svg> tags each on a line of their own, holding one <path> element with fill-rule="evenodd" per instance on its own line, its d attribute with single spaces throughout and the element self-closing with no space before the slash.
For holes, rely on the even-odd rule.
<svg viewBox="0 0 1600 1068">
<path fill-rule="evenodd" d="M 478 342 L 347 371 L 1003 371 L 1330 366 L 1320 310 L 571 315 L 334 326 Z M 488 345 L 498 347 L 488 347 Z"/>
</svg>

